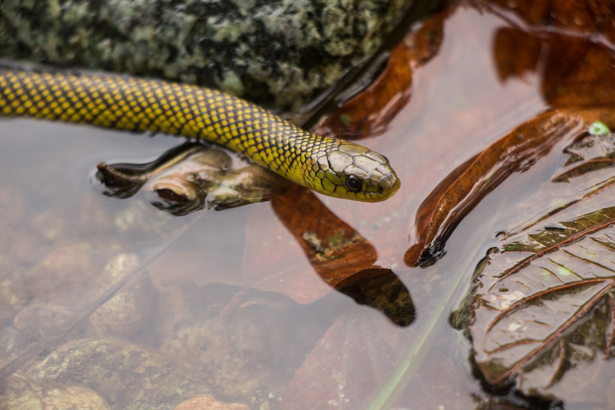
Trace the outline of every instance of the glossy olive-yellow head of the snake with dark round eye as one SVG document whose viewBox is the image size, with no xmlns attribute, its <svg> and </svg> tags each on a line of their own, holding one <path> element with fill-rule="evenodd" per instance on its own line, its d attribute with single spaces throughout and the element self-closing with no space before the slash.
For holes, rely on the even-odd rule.
<svg viewBox="0 0 615 410">
<path fill-rule="evenodd" d="M 331 151 L 316 152 L 312 170 L 312 189 L 336 198 L 379 202 L 400 186 L 386 157 L 347 141 Z"/>
</svg>

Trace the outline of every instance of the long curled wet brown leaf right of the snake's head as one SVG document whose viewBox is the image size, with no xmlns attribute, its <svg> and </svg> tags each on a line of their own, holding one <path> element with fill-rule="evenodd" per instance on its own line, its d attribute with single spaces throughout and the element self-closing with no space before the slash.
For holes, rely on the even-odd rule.
<svg viewBox="0 0 615 410">
<path fill-rule="evenodd" d="M 439 256 L 454 227 L 488 192 L 511 173 L 528 170 L 561 138 L 581 135 L 598 120 L 613 127 L 615 117 L 608 109 L 549 111 L 460 165 L 421 203 L 406 264 L 416 266 Z"/>
</svg>

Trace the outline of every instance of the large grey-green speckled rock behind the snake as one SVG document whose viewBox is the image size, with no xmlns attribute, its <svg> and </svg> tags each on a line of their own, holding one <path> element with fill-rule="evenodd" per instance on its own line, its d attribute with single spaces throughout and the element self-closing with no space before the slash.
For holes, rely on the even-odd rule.
<svg viewBox="0 0 615 410">
<path fill-rule="evenodd" d="M 204 85 L 296 109 L 412 0 L 4 0 L 0 56 Z"/>
</svg>

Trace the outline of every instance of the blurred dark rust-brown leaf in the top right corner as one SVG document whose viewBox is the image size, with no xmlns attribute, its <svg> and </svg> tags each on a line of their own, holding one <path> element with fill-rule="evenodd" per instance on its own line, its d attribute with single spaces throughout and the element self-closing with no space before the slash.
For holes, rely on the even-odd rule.
<svg viewBox="0 0 615 410">
<path fill-rule="evenodd" d="M 613 49 L 564 34 L 534 34 L 501 28 L 494 59 L 502 81 L 536 72 L 541 60 L 542 95 L 554 108 L 615 103 Z M 544 60 L 544 61 L 543 61 Z"/>
</svg>

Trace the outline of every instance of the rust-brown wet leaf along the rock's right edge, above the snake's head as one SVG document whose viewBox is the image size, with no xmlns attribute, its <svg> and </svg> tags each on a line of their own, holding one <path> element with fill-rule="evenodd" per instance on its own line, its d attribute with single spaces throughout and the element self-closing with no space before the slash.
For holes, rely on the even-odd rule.
<svg viewBox="0 0 615 410">
<path fill-rule="evenodd" d="M 375 81 L 321 120 L 314 133 L 356 140 L 384 132 L 410 99 L 412 70 L 429 61 L 440 48 L 443 22 L 451 10 L 432 16 L 410 33 L 391 52 Z"/>
</svg>

